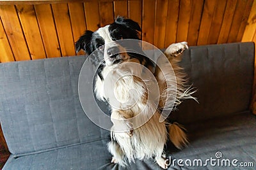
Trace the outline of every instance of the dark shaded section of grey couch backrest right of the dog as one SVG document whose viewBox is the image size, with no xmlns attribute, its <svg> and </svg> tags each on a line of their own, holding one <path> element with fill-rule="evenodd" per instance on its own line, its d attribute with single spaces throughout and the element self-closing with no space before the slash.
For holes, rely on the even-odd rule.
<svg viewBox="0 0 256 170">
<path fill-rule="evenodd" d="M 191 46 L 180 65 L 198 91 L 173 111 L 182 124 L 249 111 L 254 73 L 254 44 Z"/>
</svg>

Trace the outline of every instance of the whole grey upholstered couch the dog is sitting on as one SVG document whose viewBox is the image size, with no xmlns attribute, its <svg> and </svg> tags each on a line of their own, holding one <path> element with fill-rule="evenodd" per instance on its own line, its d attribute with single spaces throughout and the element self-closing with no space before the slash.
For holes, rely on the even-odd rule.
<svg viewBox="0 0 256 170">
<path fill-rule="evenodd" d="M 199 104 L 184 101 L 170 117 L 184 124 L 190 144 L 180 151 L 166 144 L 168 169 L 256 167 L 256 117 L 249 110 L 254 54 L 253 43 L 191 46 L 184 52 L 180 64 L 198 89 Z M 0 120 L 12 153 L 4 170 L 122 169 L 110 163 L 109 132 L 81 108 L 77 81 L 84 60 L 0 64 Z M 127 169 L 160 168 L 136 160 Z"/>
</svg>

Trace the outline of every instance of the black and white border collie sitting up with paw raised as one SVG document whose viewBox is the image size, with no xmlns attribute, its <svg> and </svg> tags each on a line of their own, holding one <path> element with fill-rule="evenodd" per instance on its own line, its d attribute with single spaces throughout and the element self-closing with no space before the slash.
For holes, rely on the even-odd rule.
<svg viewBox="0 0 256 170">
<path fill-rule="evenodd" d="M 159 166 L 167 169 L 163 149 L 168 138 L 179 149 L 188 144 L 182 126 L 166 120 L 159 121 L 164 106 L 172 105 L 168 92 L 175 90 L 174 107 L 183 99 L 195 99 L 191 96 L 191 87 L 185 85 L 186 74 L 178 66 L 180 55 L 188 49 L 188 45 L 182 42 L 168 46 L 164 52 L 167 62 L 158 59 L 155 66 L 152 60 L 141 55 L 143 52 L 139 44 L 122 45 L 123 39 L 140 40 L 139 32 L 141 28 L 137 22 L 117 17 L 113 24 L 100 27 L 95 32 L 86 31 L 76 42 L 76 52 L 84 50 L 97 67 L 95 96 L 107 103 L 119 101 L 118 106 L 110 104 L 113 127 L 108 150 L 113 155 L 112 162 L 127 166 L 134 159 L 154 159 Z M 129 51 L 131 48 L 139 49 L 140 53 L 132 53 Z M 154 92 L 147 89 L 147 83 L 152 81 L 140 78 L 147 72 L 145 68 L 157 82 L 155 87 L 160 94 L 157 104 L 147 102 L 150 93 Z M 174 74 L 168 74 L 170 69 Z"/>
</svg>

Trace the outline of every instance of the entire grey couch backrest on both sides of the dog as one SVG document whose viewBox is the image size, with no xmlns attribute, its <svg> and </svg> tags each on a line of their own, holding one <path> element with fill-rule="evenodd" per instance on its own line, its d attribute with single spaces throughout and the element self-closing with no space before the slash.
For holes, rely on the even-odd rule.
<svg viewBox="0 0 256 170">
<path fill-rule="evenodd" d="M 248 110 L 253 61 L 253 43 L 191 46 L 180 64 L 200 104 L 184 101 L 172 119 L 189 123 Z M 93 124 L 79 103 L 83 62 L 84 57 L 62 57 L 0 64 L 0 121 L 11 153 L 106 138 L 108 132 Z"/>
</svg>

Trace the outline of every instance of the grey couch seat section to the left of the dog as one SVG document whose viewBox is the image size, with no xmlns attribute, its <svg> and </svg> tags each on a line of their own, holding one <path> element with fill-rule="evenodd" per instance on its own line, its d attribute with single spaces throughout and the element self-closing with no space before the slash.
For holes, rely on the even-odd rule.
<svg viewBox="0 0 256 170">
<path fill-rule="evenodd" d="M 11 155 L 3 169 L 97 169 L 110 160 L 105 143 L 93 141 L 17 158 Z"/>
</svg>

